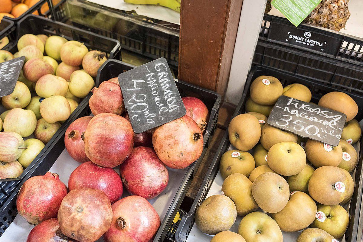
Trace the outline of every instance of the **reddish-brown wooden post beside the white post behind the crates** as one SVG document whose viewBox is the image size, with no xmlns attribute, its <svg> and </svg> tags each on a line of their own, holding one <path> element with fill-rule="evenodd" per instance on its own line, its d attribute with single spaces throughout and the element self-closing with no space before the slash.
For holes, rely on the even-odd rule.
<svg viewBox="0 0 363 242">
<path fill-rule="evenodd" d="M 224 94 L 241 6 L 242 0 L 181 1 L 180 80 Z"/>
</svg>

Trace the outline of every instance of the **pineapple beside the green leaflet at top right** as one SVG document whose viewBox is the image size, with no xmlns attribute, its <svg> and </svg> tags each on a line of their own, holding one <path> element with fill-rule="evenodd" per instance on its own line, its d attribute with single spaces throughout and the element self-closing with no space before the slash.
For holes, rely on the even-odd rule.
<svg viewBox="0 0 363 242">
<path fill-rule="evenodd" d="M 322 0 L 304 22 L 339 31 L 345 27 L 350 16 L 348 2 L 349 0 Z"/>
</svg>

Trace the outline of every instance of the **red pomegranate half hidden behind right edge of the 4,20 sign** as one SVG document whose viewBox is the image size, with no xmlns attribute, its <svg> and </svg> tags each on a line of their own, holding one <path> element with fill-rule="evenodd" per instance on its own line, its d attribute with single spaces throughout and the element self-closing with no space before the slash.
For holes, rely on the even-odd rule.
<svg viewBox="0 0 363 242">
<path fill-rule="evenodd" d="M 200 127 L 200 130 L 204 132 L 209 120 L 209 110 L 207 106 L 196 97 L 182 97 L 185 109 L 187 109 L 187 116 L 193 118 L 193 120 Z"/>
</svg>

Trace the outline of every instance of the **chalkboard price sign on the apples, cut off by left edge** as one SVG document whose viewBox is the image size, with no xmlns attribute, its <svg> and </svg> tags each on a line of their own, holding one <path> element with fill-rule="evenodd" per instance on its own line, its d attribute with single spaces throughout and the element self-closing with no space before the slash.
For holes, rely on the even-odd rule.
<svg viewBox="0 0 363 242">
<path fill-rule="evenodd" d="M 19 57 L 0 63 L 0 97 L 7 96 L 14 91 L 25 57 Z"/>
</svg>

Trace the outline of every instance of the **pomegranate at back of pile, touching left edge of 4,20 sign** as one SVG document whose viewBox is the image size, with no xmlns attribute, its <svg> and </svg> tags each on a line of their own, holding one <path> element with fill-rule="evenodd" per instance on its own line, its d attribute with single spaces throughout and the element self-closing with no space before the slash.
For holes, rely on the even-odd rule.
<svg viewBox="0 0 363 242">
<path fill-rule="evenodd" d="M 113 82 L 102 82 L 99 87 L 94 87 L 91 92 L 89 105 L 92 113 L 114 113 L 121 115 L 125 111 L 123 96 L 119 85 Z"/>
</svg>

